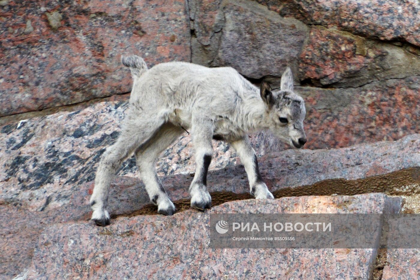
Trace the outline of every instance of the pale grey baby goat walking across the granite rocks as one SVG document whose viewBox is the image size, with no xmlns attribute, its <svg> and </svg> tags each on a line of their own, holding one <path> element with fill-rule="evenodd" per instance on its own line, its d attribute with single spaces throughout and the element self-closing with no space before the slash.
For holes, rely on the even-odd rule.
<svg viewBox="0 0 420 280">
<path fill-rule="evenodd" d="M 273 198 L 262 181 L 257 156 L 247 133 L 270 130 L 287 144 L 301 148 L 306 142 L 302 97 L 293 92 L 290 68 L 281 76 L 281 87 L 260 89 L 230 67 L 207 68 L 185 62 L 161 63 L 147 69 L 136 55 L 122 57 L 131 70 L 133 89 L 129 109 L 115 144 L 100 160 L 90 204 L 92 220 L 109 225 L 110 183 L 122 162 L 133 154 L 140 176 L 157 212 L 172 215 L 175 206 L 156 175 L 157 156 L 186 130 L 192 134 L 196 171 L 189 192 L 191 207 L 210 208 L 207 169 L 213 154 L 212 139 L 229 143 L 239 155 L 256 199 Z"/>
</svg>

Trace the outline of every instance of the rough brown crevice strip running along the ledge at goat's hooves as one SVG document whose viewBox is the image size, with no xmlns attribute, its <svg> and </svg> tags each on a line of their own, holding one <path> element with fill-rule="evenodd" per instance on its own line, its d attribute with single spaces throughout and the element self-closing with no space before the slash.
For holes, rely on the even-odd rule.
<svg viewBox="0 0 420 280">
<path fill-rule="evenodd" d="M 270 183 L 267 181 L 268 185 Z M 273 191 L 276 199 L 286 196 L 331 196 L 331 195 L 356 195 L 367 193 L 385 193 L 391 196 L 406 194 L 400 191 L 402 186 L 409 186 L 420 183 L 420 167 L 411 167 L 403 170 L 394 171 L 382 175 L 370 176 L 357 180 L 346 180 L 343 178 L 328 179 L 317 182 L 312 185 L 299 186 L 295 188 L 281 188 Z M 420 189 L 418 190 L 420 193 Z M 210 192 L 212 197 L 212 206 L 217 206 L 228 201 L 252 199 L 253 196 L 248 193 L 235 194 L 229 191 Z M 173 201 L 176 212 L 183 212 L 190 208 L 189 199 L 180 199 Z M 157 215 L 157 206 L 147 204 L 139 210 L 117 217 L 134 217 L 137 215 Z"/>
</svg>

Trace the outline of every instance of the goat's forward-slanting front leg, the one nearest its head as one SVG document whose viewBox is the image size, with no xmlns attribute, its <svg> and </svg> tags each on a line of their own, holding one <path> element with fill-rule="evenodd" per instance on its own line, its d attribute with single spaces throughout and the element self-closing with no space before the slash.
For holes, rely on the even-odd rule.
<svg viewBox="0 0 420 280">
<path fill-rule="evenodd" d="M 230 143 L 236 150 L 236 153 L 239 155 L 239 158 L 245 167 L 245 171 L 248 175 L 250 193 L 255 196 L 256 199 L 273 199 L 273 194 L 270 193 L 267 185 L 262 181 L 258 168 L 257 155 L 251 147 L 248 136 L 245 135 L 244 138 L 237 141 L 231 141 Z"/>
</svg>

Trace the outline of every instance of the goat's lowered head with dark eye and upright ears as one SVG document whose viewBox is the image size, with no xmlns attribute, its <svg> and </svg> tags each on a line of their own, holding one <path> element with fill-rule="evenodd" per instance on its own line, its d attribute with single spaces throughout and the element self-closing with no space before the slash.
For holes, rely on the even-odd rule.
<svg viewBox="0 0 420 280">
<path fill-rule="evenodd" d="M 261 98 L 266 105 L 266 125 L 282 141 L 291 147 L 302 148 L 306 143 L 303 120 L 305 103 L 293 92 L 293 76 L 288 67 L 281 76 L 280 90 L 271 92 L 270 85 L 263 81 Z"/>
</svg>

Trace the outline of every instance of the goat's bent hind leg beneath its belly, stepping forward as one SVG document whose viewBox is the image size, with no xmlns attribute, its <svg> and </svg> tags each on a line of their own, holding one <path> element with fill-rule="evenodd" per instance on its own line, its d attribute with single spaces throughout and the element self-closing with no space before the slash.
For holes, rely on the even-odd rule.
<svg viewBox="0 0 420 280">
<path fill-rule="evenodd" d="M 157 212 L 163 215 L 173 215 L 175 206 L 162 186 L 156 174 L 155 162 L 157 156 L 175 141 L 183 132 L 180 126 L 165 123 L 159 131 L 136 149 L 135 156 L 140 176 L 146 187 L 150 201 L 157 205 Z"/>
</svg>

